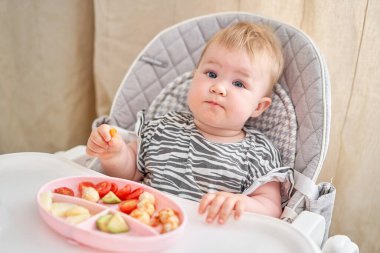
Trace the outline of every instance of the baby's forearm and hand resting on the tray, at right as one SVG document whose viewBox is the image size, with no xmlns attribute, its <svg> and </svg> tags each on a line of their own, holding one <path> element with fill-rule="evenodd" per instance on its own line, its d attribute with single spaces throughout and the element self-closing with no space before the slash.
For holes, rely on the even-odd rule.
<svg viewBox="0 0 380 253">
<path fill-rule="evenodd" d="M 282 213 L 280 183 L 266 183 L 250 196 L 228 192 L 205 194 L 199 204 L 199 213 L 204 214 L 206 211 L 208 223 L 217 218 L 222 224 L 233 211 L 235 219 L 240 218 L 244 211 L 279 218 Z"/>
</svg>

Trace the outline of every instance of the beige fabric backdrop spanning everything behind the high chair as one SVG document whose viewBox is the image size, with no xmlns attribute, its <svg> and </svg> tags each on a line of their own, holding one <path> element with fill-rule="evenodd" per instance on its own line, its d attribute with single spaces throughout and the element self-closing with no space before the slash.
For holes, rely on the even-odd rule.
<svg viewBox="0 0 380 253">
<path fill-rule="evenodd" d="M 283 21 L 320 48 L 332 84 L 319 177 L 337 188 L 330 233 L 380 252 L 380 0 L 0 0 L 0 154 L 85 144 L 159 31 L 221 11 Z"/>
</svg>

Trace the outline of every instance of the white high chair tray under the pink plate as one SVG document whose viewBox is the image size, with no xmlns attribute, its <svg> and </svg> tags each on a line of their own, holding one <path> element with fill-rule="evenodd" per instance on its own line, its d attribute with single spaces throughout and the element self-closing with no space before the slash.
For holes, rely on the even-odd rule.
<svg viewBox="0 0 380 253">
<path fill-rule="evenodd" d="M 0 156 L 0 245 L 4 252 L 100 252 L 53 231 L 38 214 L 36 194 L 46 182 L 100 175 L 51 154 Z M 226 224 L 206 224 L 196 202 L 168 195 L 188 217 L 184 235 L 161 252 L 321 252 L 292 225 L 246 213 Z"/>
</svg>

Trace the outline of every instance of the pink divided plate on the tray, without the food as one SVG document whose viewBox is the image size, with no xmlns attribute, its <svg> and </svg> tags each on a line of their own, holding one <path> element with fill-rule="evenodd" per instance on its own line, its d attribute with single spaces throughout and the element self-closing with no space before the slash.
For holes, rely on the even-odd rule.
<svg viewBox="0 0 380 253">
<path fill-rule="evenodd" d="M 118 204 L 104 204 L 102 200 L 98 202 L 90 202 L 79 197 L 78 185 L 81 182 L 89 181 L 97 184 L 102 181 L 114 182 L 118 188 L 121 189 L 126 184 L 129 184 L 132 190 L 136 188 L 143 188 L 145 192 L 149 192 L 155 197 L 155 214 L 165 208 L 174 210 L 180 220 L 178 228 L 167 232 L 161 233 L 162 225 L 150 226 L 146 225 L 139 220 L 125 214 L 119 210 Z M 74 191 L 74 197 L 54 193 L 54 189 L 59 187 L 68 187 Z M 91 216 L 78 224 L 69 223 L 65 218 L 57 217 L 52 214 L 51 210 L 44 208 L 41 201 L 41 196 L 47 192 L 52 192 L 53 203 L 71 203 L 87 208 Z M 49 193 L 50 195 L 50 193 Z M 46 196 L 46 195 L 45 195 Z M 64 237 L 74 240 L 78 243 L 88 245 L 93 248 L 98 248 L 107 251 L 115 252 L 151 252 L 163 250 L 170 245 L 174 244 L 184 232 L 184 227 L 187 223 L 187 217 L 183 209 L 165 196 L 158 190 L 149 186 L 114 177 L 103 176 L 80 176 L 80 177 L 66 177 L 51 181 L 43 185 L 37 194 L 37 202 L 39 213 L 42 219 L 55 231 Z M 129 231 L 119 234 L 111 234 L 102 232 L 97 229 L 96 221 L 99 217 L 106 214 L 120 213 L 122 218 L 129 226 Z"/>
</svg>

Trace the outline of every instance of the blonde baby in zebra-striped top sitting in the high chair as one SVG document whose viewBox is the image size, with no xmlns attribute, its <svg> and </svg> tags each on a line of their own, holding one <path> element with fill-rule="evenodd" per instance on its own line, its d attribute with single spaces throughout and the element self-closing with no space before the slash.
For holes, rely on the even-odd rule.
<svg viewBox="0 0 380 253">
<path fill-rule="evenodd" d="M 290 168 L 262 133 L 245 126 L 271 105 L 283 69 L 273 32 L 237 23 L 207 43 L 188 93 L 191 113 L 170 112 L 151 121 L 138 114 L 138 141 L 111 137 L 108 125 L 93 130 L 87 154 L 105 172 L 200 201 L 206 221 L 221 224 L 244 211 L 279 217 L 280 183 Z"/>
</svg>

